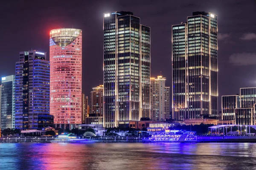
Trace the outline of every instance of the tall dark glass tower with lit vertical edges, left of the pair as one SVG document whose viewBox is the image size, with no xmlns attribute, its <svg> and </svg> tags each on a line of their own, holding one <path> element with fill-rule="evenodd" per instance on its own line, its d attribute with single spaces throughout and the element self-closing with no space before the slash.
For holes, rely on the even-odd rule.
<svg viewBox="0 0 256 170">
<path fill-rule="evenodd" d="M 150 28 L 132 12 L 104 14 L 104 126 L 150 117 Z"/>
</svg>

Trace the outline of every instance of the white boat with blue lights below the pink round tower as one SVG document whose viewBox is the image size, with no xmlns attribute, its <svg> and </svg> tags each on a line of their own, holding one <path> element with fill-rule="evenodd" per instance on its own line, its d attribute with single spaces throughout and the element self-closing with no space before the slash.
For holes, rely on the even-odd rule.
<svg viewBox="0 0 256 170">
<path fill-rule="evenodd" d="M 93 143 L 94 141 L 91 141 L 89 139 L 80 139 L 74 133 L 61 133 L 51 142 L 52 143 Z"/>
</svg>

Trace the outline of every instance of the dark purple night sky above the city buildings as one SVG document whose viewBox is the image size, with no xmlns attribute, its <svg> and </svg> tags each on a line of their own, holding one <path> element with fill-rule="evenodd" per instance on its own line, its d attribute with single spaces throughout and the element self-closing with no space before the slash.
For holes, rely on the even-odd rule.
<svg viewBox="0 0 256 170">
<path fill-rule="evenodd" d="M 103 13 L 131 11 L 151 27 L 151 77 L 172 85 L 172 25 L 193 11 L 218 15 L 218 85 L 221 95 L 256 87 L 255 0 L 0 0 L 0 76 L 15 74 L 20 51 L 47 52 L 49 31 L 83 31 L 83 92 L 103 83 Z"/>
</svg>

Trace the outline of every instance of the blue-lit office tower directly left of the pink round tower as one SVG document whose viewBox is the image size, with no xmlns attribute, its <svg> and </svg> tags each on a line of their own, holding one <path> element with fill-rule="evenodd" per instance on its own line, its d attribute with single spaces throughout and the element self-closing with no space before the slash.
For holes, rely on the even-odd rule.
<svg viewBox="0 0 256 170">
<path fill-rule="evenodd" d="M 53 125 L 49 115 L 50 64 L 46 53 L 20 52 L 16 62 L 15 128 L 40 129 Z"/>
</svg>

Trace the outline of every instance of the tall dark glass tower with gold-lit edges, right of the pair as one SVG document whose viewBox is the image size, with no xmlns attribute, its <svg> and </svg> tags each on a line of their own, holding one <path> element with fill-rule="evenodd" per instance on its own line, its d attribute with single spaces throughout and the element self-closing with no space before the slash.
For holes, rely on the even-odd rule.
<svg viewBox="0 0 256 170">
<path fill-rule="evenodd" d="M 173 119 L 218 115 L 217 16 L 193 12 L 172 26 Z"/>
</svg>

